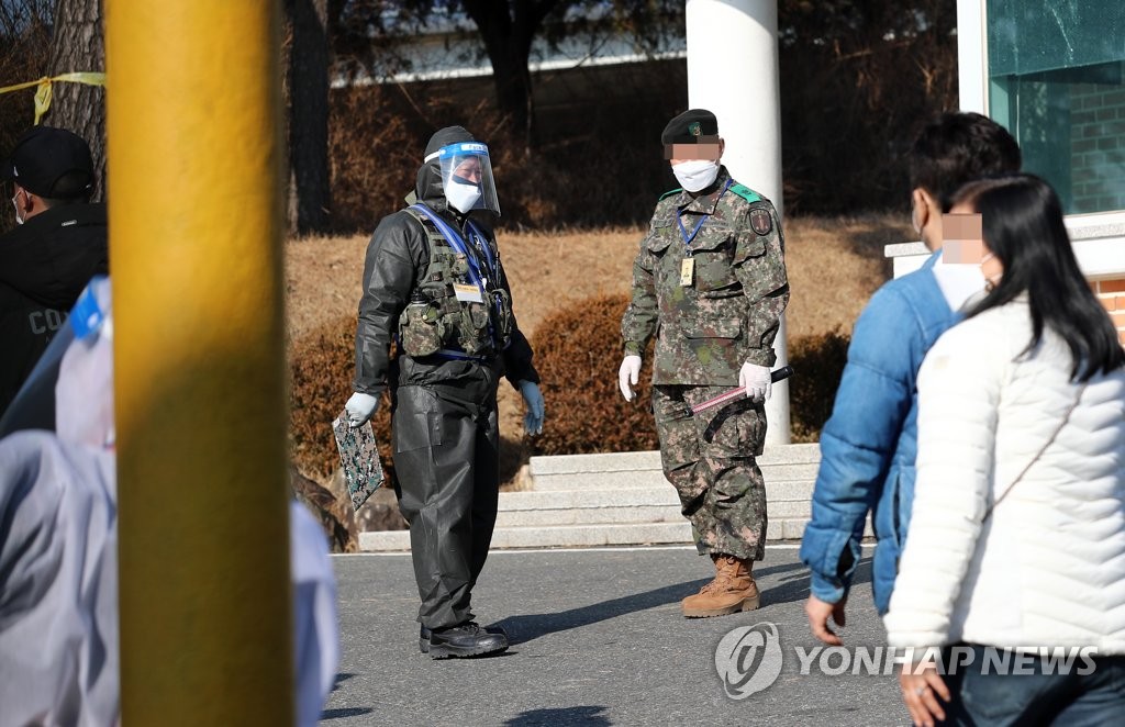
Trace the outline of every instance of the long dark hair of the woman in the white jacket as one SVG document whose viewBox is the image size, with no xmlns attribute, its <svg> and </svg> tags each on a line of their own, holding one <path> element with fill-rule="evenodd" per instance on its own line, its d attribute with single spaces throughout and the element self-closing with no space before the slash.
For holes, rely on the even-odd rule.
<svg viewBox="0 0 1125 727">
<path fill-rule="evenodd" d="M 1125 366 L 1117 330 L 1078 268 L 1062 205 L 1050 185 L 1033 174 L 986 179 L 962 187 L 953 201 L 980 213 L 984 244 L 1004 264 L 1000 281 L 969 317 L 1026 291 L 1033 332 L 1024 353 L 1038 345 L 1043 327 L 1050 326 L 1070 348 L 1072 380 Z"/>
</svg>

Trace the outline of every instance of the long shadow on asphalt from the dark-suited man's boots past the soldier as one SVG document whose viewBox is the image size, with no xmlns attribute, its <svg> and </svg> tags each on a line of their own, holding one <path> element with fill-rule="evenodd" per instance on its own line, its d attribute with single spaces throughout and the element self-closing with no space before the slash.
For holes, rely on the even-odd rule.
<svg viewBox="0 0 1125 727">
<path fill-rule="evenodd" d="M 800 563 L 755 569 L 754 575 L 763 578 L 793 571 L 796 573 L 790 576 L 788 583 L 766 591 L 766 593 L 770 594 L 767 596 L 770 603 L 784 603 L 807 596 L 809 593 L 808 571 Z M 668 603 L 676 603 L 681 599 L 699 591 L 703 584 L 708 582 L 709 578 L 686 581 L 684 583 L 666 585 L 664 587 L 645 591 L 642 593 L 622 595 L 621 598 L 602 601 L 601 603 L 592 603 L 590 605 L 583 605 L 567 611 L 512 616 L 497 621 L 494 626 L 500 626 L 507 631 L 513 644 L 520 644 L 537 639 L 540 636 L 590 626 L 591 623 L 597 623 L 598 621 L 612 619 L 626 613 L 644 611 L 659 605 L 666 605 Z M 856 582 L 858 582 L 858 578 Z"/>
</svg>

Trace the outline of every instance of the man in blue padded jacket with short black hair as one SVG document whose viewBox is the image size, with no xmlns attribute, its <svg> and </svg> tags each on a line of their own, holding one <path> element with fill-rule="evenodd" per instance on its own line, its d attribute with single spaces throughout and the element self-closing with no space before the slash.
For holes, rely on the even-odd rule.
<svg viewBox="0 0 1125 727">
<path fill-rule="evenodd" d="M 979 114 L 946 113 L 918 135 L 910 156 L 911 218 L 934 254 L 891 280 L 856 321 L 832 415 L 820 433 L 820 470 L 801 560 L 812 572 L 806 613 L 812 634 L 840 644 L 848 587 L 867 512 L 875 537 L 875 608 L 885 613 L 914 500 L 918 392 L 926 351 L 984 285 L 969 266 L 943 266 L 942 214 L 963 183 L 1019 171 L 1016 141 Z"/>
</svg>

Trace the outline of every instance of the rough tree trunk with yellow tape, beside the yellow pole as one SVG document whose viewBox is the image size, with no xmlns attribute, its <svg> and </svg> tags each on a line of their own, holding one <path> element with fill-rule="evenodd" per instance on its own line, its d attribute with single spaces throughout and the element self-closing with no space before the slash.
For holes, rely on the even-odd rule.
<svg viewBox="0 0 1125 727">
<path fill-rule="evenodd" d="M 105 71 L 106 44 L 100 0 L 58 0 L 51 38 L 50 73 Z M 106 91 L 100 86 L 55 83 L 46 122 L 74 132 L 90 144 L 98 176 L 94 199 L 106 189 Z"/>
</svg>

